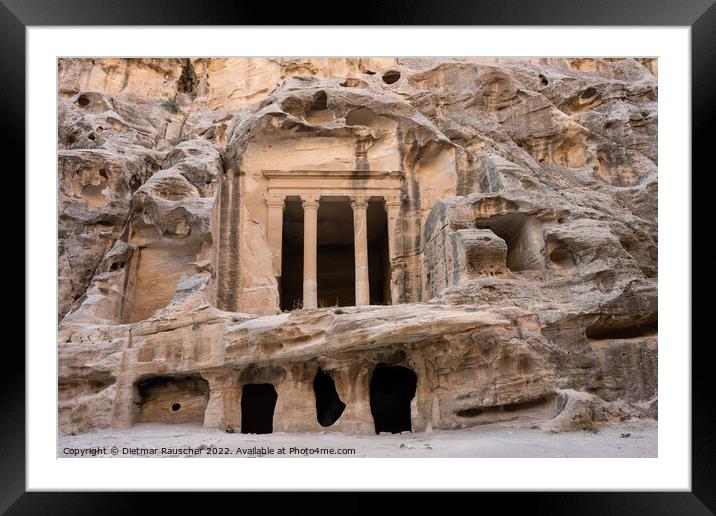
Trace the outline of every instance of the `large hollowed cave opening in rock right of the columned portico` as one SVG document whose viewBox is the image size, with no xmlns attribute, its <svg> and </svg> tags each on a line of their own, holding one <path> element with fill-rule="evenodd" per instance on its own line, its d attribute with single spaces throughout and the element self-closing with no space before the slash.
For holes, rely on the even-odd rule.
<svg viewBox="0 0 716 516">
<path fill-rule="evenodd" d="M 512 272 L 545 267 L 544 236 L 539 221 L 521 213 L 495 215 L 475 221 L 475 227 L 490 229 L 507 244 L 507 268 Z"/>
</svg>

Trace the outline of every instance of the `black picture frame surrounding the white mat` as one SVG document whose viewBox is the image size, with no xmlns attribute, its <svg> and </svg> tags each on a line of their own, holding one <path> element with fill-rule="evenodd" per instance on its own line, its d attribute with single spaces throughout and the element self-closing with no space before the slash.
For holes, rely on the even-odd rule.
<svg viewBox="0 0 716 516">
<path fill-rule="evenodd" d="M 269 3 L 195 0 L 2 0 L 0 3 L 0 52 L 3 57 L 2 124 L 6 148 L 22 149 L 25 139 L 25 29 L 28 26 L 82 25 L 512 25 L 512 26 L 689 26 L 691 27 L 692 159 L 693 167 L 705 165 L 713 146 L 710 131 L 716 95 L 715 0 L 399 0 L 390 3 L 363 1 L 355 8 L 336 2 Z M 342 14 L 341 14 L 342 13 Z M 567 51 L 568 49 L 566 49 Z M 24 153 L 17 152 L 24 170 Z M 707 161 L 709 160 L 709 161 Z M 682 171 L 686 177 L 688 171 Z M 693 176 L 692 176 L 693 177 Z M 693 191 L 693 190 L 692 190 Z M 25 192 L 27 195 L 28 192 Z M 24 196 L 22 197 L 24 198 Z M 693 204 L 692 204 L 693 206 Z M 692 217 L 692 220 L 694 217 Z M 694 234 L 692 232 L 692 234 Z M 695 262 L 693 262 L 695 265 Z M 26 277 L 31 271 L 25 271 Z M 26 310 L 31 310 L 27 306 Z M 691 343 L 665 343 L 689 345 Z M 52 352 L 48 350 L 48 352 Z M 589 493 L 479 493 L 483 508 L 496 501 L 502 507 L 529 508 L 547 514 L 711 514 L 716 511 L 716 425 L 709 360 L 710 340 L 692 346 L 692 491 L 690 492 L 589 492 Z M 12 364 L 0 390 L 0 512 L 7 514 L 127 514 L 162 504 L 162 512 L 187 512 L 188 497 L 182 493 L 141 496 L 121 492 L 25 492 L 25 353 L 16 342 L 5 342 L 5 363 Z M 711 416 L 711 417 L 710 417 Z M 88 467 L 91 467 L 88 463 Z M 436 473 L 437 474 L 437 473 Z M 275 494 L 212 493 L 212 506 L 228 497 L 242 497 L 242 505 L 261 503 L 271 497 L 277 507 L 283 498 Z M 353 493 L 340 502 L 346 512 L 374 510 L 374 493 Z M 259 499 L 260 497 L 261 500 Z M 300 495 L 303 497 L 303 495 Z M 148 500 L 147 498 L 158 498 Z M 413 493 L 401 512 L 424 505 L 423 495 Z M 453 498 L 456 509 L 467 503 L 463 495 Z M 499 498 L 494 500 L 494 498 Z M 325 498 L 324 498 L 325 500 Z M 509 501 L 508 505 L 505 502 Z M 205 502 L 204 502 L 205 503 Z M 309 508 L 307 502 L 306 509 Z M 292 500 L 294 507 L 301 502 Z M 298 505 L 296 505 L 298 504 Z M 413 507 L 409 507 L 413 505 Z M 207 506 L 204 505 L 206 508 Z M 319 509 L 318 506 L 314 508 Z M 343 509 L 339 509 L 343 512 Z M 273 511 L 271 511 L 273 512 Z M 300 510 L 299 510 L 300 512 Z M 333 511 L 331 511 L 333 512 Z"/>
</svg>

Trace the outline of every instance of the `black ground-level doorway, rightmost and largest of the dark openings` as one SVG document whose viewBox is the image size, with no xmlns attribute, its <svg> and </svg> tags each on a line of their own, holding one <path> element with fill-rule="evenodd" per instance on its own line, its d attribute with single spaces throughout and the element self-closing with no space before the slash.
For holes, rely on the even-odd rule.
<svg viewBox="0 0 716 516">
<path fill-rule="evenodd" d="M 410 402 L 418 377 L 403 366 L 377 365 L 370 379 L 370 412 L 375 433 L 410 432 Z"/>
</svg>

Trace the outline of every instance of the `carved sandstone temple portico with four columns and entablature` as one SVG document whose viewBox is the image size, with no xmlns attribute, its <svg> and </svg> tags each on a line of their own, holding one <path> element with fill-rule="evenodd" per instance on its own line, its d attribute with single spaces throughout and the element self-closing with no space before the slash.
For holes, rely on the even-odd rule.
<svg viewBox="0 0 716 516">
<path fill-rule="evenodd" d="M 389 304 L 397 299 L 391 279 L 401 172 L 294 170 L 263 175 L 268 179 L 267 240 L 273 273 L 286 298 L 284 309 L 363 306 L 372 300 Z"/>
</svg>

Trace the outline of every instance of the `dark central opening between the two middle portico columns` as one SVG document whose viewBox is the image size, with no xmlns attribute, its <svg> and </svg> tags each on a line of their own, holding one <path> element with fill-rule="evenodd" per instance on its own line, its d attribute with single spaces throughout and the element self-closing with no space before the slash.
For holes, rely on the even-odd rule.
<svg viewBox="0 0 716 516">
<path fill-rule="evenodd" d="M 322 197 L 318 208 L 318 306 L 354 306 L 353 208 L 347 197 Z"/>
</svg>

